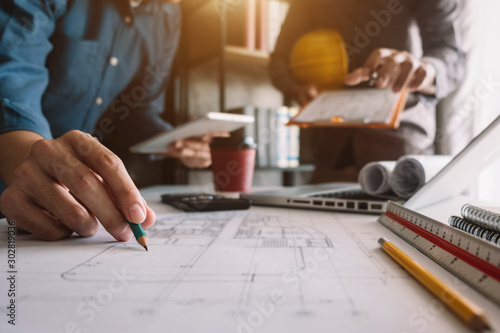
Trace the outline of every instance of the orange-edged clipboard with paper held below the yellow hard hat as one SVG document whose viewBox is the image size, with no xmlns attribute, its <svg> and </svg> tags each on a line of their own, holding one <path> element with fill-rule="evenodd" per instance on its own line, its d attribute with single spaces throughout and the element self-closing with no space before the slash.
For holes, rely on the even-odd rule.
<svg viewBox="0 0 500 333">
<path fill-rule="evenodd" d="M 408 91 L 391 89 L 343 89 L 321 93 L 287 125 L 396 129 Z"/>
</svg>

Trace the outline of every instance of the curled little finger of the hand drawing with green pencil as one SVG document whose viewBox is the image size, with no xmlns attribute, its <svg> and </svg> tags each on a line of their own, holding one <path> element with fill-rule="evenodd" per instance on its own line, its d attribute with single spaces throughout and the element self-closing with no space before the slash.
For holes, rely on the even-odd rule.
<svg viewBox="0 0 500 333">
<path fill-rule="evenodd" d="M 35 205 L 24 193 L 7 188 L 0 197 L 0 209 L 8 221 L 16 221 L 21 230 L 47 241 L 69 237 L 73 231 Z"/>
</svg>

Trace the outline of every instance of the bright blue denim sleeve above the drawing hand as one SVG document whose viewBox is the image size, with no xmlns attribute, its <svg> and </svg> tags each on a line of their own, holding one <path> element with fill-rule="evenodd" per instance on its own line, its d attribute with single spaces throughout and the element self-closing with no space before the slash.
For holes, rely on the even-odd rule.
<svg viewBox="0 0 500 333">
<path fill-rule="evenodd" d="M 3 0 L 0 4 L 0 134 L 14 130 L 52 138 L 41 100 L 49 74 L 49 41 L 63 0 Z"/>
</svg>

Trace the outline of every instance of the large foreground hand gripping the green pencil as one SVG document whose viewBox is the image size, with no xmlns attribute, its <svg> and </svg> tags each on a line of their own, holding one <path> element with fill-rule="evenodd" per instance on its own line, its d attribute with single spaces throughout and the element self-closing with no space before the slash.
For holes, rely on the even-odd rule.
<svg viewBox="0 0 500 333">
<path fill-rule="evenodd" d="M 33 143 L 0 196 L 0 210 L 44 240 L 73 232 L 92 236 L 99 220 L 115 239 L 127 241 L 133 235 L 127 221 L 145 228 L 155 222 L 122 161 L 80 131 Z"/>
</svg>

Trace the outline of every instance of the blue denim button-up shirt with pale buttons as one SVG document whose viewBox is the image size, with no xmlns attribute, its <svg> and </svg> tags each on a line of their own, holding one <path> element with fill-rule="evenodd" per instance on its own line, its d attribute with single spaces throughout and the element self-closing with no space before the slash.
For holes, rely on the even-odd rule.
<svg viewBox="0 0 500 333">
<path fill-rule="evenodd" d="M 179 29 L 179 6 L 160 0 L 2 0 L 0 133 L 120 125 L 132 142 L 169 129 L 159 115 Z M 96 123 L 108 108 L 121 124 Z"/>
</svg>

